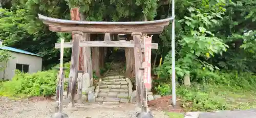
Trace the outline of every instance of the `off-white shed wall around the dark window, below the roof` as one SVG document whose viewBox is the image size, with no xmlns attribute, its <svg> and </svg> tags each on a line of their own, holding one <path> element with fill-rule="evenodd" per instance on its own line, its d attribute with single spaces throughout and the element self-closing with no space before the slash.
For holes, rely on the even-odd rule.
<svg viewBox="0 0 256 118">
<path fill-rule="evenodd" d="M 41 71 L 42 69 L 42 58 L 22 53 L 14 53 L 11 52 L 12 57 L 15 57 L 14 59 L 10 58 L 10 60 L 7 63 L 7 68 L 5 69 L 5 79 L 12 79 L 15 74 L 16 69 L 16 63 L 18 64 L 27 64 L 29 65 L 29 73 L 36 73 L 38 71 Z M 3 77 L 3 72 L 0 72 L 0 79 Z M 2 77 L 2 78 L 1 78 Z"/>
</svg>

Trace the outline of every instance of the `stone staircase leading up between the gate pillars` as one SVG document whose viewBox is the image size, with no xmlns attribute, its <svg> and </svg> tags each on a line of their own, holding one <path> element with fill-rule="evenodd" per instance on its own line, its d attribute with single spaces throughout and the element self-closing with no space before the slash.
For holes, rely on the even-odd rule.
<svg viewBox="0 0 256 118">
<path fill-rule="evenodd" d="M 96 102 L 128 103 L 132 95 L 132 82 L 124 76 L 109 76 L 99 80 L 95 89 Z"/>
</svg>

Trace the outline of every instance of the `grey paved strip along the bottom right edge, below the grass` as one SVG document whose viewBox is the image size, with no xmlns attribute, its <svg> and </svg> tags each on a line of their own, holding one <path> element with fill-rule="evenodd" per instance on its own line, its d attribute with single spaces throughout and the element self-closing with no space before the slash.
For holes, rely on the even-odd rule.
<svg viewBox="0 0 256 118">
<path fill-rule="evenodd" d="M 217 111 L 217 112 L 188 112 L 185 118 L 255 118 L 256 109 Z"/>
</svg>

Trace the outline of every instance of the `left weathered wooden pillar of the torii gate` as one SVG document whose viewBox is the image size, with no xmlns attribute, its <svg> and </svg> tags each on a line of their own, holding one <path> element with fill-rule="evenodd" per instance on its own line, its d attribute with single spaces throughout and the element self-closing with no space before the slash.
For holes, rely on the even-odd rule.
<svg viewBox="0 0 256 118">
<path fill-rule="evenodd" d="M 74 40 L 72 46 L 72 54 L 71 54 L 71 65 L 70 65 L 70 74 L 69 77 L 72 78 L 72 86 L 71 86 L 71 101 L 72 107 L 74 106 L 74 98 L 76 93 L 76 81 L 77 81 L 77 73 L 78 73 L 78 57 L 79 57 L 79 42 L 80 38 L 83 35 L 81 32 L 73 32 Z"/>
</svg>

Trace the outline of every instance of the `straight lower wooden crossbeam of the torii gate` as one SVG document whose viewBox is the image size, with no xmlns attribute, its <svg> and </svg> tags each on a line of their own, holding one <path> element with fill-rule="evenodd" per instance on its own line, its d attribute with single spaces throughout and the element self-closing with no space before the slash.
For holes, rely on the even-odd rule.
<svg viewBox="0 0 256 118">
<path fill-rule="evenodd" d="M 72 48 L 72 42 L 65 42 L 65 48 Z M 125 47 L 125 48 L 134 48 L 134 41 L 82 41 L 79 44 L 80 47 L 91 46 L 91 47 Z M 144 43 L 140 44 L 141 47 L 144 47 Z M 55 48 L 60 48 L 60 43 L 55 43 Z M 158 44 L 152 43 L 152 49 L 157 49 Z"/>
</svg>

